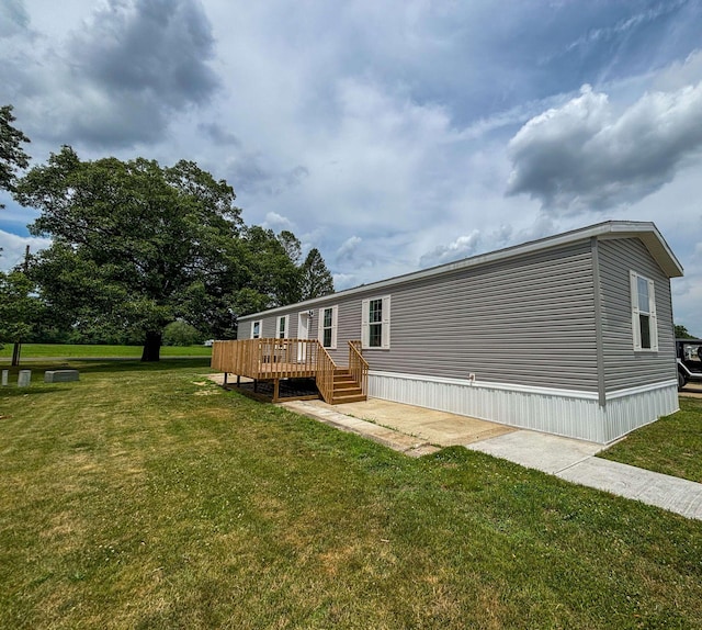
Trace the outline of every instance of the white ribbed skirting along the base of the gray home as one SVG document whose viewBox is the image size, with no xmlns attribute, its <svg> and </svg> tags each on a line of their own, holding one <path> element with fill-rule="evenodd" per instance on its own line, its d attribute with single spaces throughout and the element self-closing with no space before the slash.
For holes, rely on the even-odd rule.
<svg viewBox="0 0 702 630">
<path fill-rule="evenodd" d="M 599 443 L 678 410 L 676 380 L 610 393 L 600 406 L 597 392 L 371 371 L 369 396 Z"/>
</svg>

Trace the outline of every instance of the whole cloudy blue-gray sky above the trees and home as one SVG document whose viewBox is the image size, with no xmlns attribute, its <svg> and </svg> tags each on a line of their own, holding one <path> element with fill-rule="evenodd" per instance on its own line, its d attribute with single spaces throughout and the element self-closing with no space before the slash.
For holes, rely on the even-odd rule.
<svg viewBox="0 0 702 630">
<path fill-rule="evenodd" d="M 337 289 L 654 221 L 702 336 L 702 0 L 0 0 L 0 55 L 35 162 L 195 160 Z"/>
</svg>

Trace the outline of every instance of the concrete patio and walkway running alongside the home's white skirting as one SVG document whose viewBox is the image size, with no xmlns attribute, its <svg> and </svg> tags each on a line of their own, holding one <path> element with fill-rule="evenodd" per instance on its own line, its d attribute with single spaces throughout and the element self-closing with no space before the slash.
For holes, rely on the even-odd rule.
<svg viewBox="0 0 702 630">
<path fill-rule="evenodd" d="M 604 447 L 593 442 L 377 398 L 335 406 L 321 401 L 296 401 L 283 406 L 410 457 L 462 445 L 573 483 L 702 520 L 702 484 L 596 458 Z"/>
</svg>

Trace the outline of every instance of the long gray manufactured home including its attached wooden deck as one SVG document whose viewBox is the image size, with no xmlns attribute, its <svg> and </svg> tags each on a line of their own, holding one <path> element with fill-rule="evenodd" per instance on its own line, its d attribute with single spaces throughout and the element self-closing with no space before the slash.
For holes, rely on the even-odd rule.
<svg viewBox="0 0 702 630">
<path fill-rule="evenodd" d="M 239 318 L 213 368 L 607 443 L 678 409 L 653 223 L 610 221 Z"/>
</svg>

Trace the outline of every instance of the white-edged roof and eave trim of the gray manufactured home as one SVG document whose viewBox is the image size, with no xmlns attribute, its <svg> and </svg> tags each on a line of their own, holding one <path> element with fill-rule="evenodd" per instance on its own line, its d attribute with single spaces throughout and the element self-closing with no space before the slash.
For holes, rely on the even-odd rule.
<svg viewBox="0 0 702 630">
<path fill-rule="evenodd" d="M 329 302 L 330 300 L 337 300 L 338 297 L 346 297 L 347 295 L 353 295 L 354 293 L 361 293 L 366 291 L 380 291 L 405 282 L 411 282 L 414 280 L 420 280 L 424 278 L 431 278 L 433 275 L 440 275 L 450 271 L 456 271 L 460 269 L 468 269 L 472 267 L 478 267 L 488 262 L 496 262 L 498 260 L 505 260 L 514 258 L 517 256 L 523 256 L 525 254 L 533 254 L 535 251 L 543 251 L 554 247 L 561 247 L 577 243 L 579 240 L 586 240 L 592 237 L 597 238 L 638 238 L 654 260 L 658 263 L 660 269 L 668 275 L 668 278 L 680 278 L 682 275 L 682 266 L 676 258 L 675 254 L 666 243 L 656 225 L 652 222 L 644 221 L 605 221 L 590 225 L 588 227 L 581 227 L 573 229 L 570 232 L 564 232 L 563 234 L 556 234 L 555 236 L 546 236 L 537 240 L 530 240 L 520 245 L 513 245 L 512 247 L 506 247 L 505 249 L 498 249 L 488 254 L 479 254 L 472 256 L 471 258 L 463 258 L 454 262 L 446 262 L 438 267 L 430 267 L 428 269 L 421 269 L 419 271 L 411 271 L 403 275 L 396 275 L 388 278 L 387 280 L 378 280 L 377 282 L 371 282 L 370 284 L 361 284 L 352 289 L 346 289 L 338 293 L 325 295 L 322 297 L 314 297 L 306 300 L 305 302 L 298 302 L 296 304 L 287 304 L 285 306 L 278 306 L 260 313 L 252 313 L 250 315 L 242 315 L 239 319 L 256 318 L 263 314 L 270 315 L 276 312 L 288 310 L 291 306 L 301 306 L 304 308 Z"/>
</svg>

